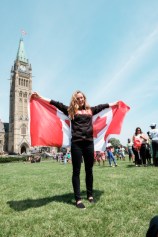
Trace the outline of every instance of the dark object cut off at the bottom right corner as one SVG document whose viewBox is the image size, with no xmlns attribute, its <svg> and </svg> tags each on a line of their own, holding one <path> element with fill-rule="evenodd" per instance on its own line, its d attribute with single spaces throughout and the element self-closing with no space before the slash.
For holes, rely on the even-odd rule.
<svg viewBox="0 0 158 237">
<path fill-rule="evenodd" d="M 146 237 L 158 237 L 158 216 L 154 216 L 150 220 L 149 228 Z"/>
</svg>

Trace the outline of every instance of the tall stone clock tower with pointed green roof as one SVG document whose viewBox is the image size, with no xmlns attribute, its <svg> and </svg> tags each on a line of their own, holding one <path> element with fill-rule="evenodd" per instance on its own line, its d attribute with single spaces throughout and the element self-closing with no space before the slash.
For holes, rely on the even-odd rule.
<svg viewBox="0 0 158 237">
<path fill-rule="evenodd" d="M 8 152 L 23 153 L 30 148 L 28 103 L 32 92 L 32 68 L 20 39 L 11 69 Z"/>
</svg>

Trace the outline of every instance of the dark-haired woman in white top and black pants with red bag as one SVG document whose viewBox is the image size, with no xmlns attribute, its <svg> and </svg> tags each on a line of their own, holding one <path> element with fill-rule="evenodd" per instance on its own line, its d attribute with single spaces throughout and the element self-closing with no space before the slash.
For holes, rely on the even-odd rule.
<svg viewBox="0 0 158 237">
<path fill-rule="evenodd" d="M 142 132 L 140 127 L 137 127 L 133 136 L 133 151 L 135 155 L 135 165 L 146 166 L 146 143 L 148 137 Z"/>
</svg>

